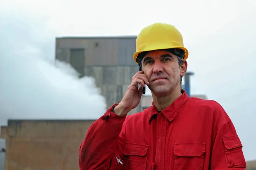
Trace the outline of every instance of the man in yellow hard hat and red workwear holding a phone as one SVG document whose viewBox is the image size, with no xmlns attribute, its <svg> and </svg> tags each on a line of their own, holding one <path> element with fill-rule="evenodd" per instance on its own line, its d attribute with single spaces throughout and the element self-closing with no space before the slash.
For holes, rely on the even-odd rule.
<svg viewBox="0 0 256 170">
<path fill-rule="evenodd" d="M 142 71 L 122 101 L 90 126 L 80 146 L 81 170 L 245 170 L 242 144 L 221 105 L 181 89 L 187 58 L 174 26 L 143 28 L 134 54 Z M 139 104 L 144 83 L 152 106 L 126 116 Z"/>
</svg>

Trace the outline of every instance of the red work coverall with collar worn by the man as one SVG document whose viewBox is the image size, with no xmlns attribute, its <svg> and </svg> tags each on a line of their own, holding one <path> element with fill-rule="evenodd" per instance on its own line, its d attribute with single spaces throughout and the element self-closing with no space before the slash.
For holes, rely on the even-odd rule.
<svg viewBox="0 0 256 170">
<path fill-rule="evenodd" d="M 241 141 L 221 105 L 182 92 L 161 112 L 154 102 L 127 117 L 109 108 L 81 143 L 80 170 L 245 170 Z"/>
</svg>

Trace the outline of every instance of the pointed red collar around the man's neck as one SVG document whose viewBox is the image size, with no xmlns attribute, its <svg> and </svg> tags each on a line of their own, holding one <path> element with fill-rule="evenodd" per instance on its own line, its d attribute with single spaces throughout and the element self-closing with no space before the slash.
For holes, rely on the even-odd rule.
<svg viewBox="0 0 256 170">
<path fill-rule="evenodd" d="M 177 113 L 180 111 L 180 108 L 184 105 L 186 100 L 188 99 L 188 95 L 186 92 L 182 89 L 181 90 L 182 95 L 179 96 L 174 102 L 172 102 L 171 105 L 169 105 L 167 108 L 163 109 L 161 112 L 163 115 L 170 121 L 175 118 Z M 154 101 L 152 102 L 152 106 L 149 109 L 149 115 L 148 115 L 148 123 L 151 123 L 151 118 L 158 113 L 157 108 L 154 105 Z"/>
</svg>

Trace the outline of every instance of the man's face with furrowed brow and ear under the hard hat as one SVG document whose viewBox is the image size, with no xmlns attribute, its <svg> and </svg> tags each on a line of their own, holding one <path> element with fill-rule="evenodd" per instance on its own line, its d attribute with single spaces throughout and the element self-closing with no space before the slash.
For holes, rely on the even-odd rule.
<svg viewBox="0 0 256 170">
<path fill-rule="evenodd" d="M 142 60 L 142 69 L 148 77 L 148 88 L 155 96 L 180 90 L 180 77 L 186 74 L 187 62 L 179 66 L 176 55 L 164 51 L 150 51 Z"/>
</svg>

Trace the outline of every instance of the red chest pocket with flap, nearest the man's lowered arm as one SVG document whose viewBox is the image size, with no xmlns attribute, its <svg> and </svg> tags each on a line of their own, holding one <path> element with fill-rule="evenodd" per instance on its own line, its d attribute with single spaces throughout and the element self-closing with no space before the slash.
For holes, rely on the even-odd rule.
<svg viewBox="0 0 256 170">
<path fill-rule="evenodd" d="M 203 170 L 205 144 L 175 144 L 173 152 L 175 170 Z"/>
</svg>

